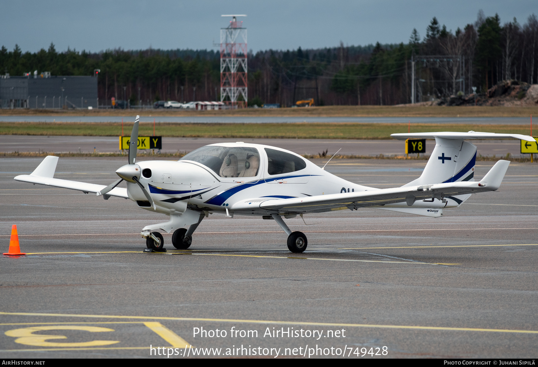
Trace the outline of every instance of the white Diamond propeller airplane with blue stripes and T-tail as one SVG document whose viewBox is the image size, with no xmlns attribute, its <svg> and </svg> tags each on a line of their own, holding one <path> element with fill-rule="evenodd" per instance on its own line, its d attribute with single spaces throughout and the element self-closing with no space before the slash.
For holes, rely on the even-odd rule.
<svg viewBox="0 0 538 367">
<path fill-rule="evenodd" d="M 440 217 L 443 208 L 459 207 L 472 193 L 497 190 L 510 164 L 499 160 L 475 182 L 477 147 L 465 139 L 534 142 L 530 136 L 474 131 L 392 134 L 399 140 L 435 139 L 436 145 L 419 178 L 402 187 L 379 189 L 341 179 L 293 152 L 243 142 L 206 145 L 178 161 L 137 163 L 138 119 L 131 133 L 129 164 L 118 168 L 120 179 L 109 186 L 55 179 L 58 157 L 54 156 L 15 180 L 97 193 L 105 200 L 124 197 L 142 209 L 168 215 L 169 221 L 147 225 L 140 233 L 154 251 L 165 251 L 157 230 L 173 232 L 174 247 L 187 249 L 203 218 L 218 213 L 274 220 L 288 235 L 289 251 L 303 252 L 306 235 L 292 232 L 283 218 L 364 207 Z M 123 180 L 127 188 L 116 187 Z"/>
</svg>

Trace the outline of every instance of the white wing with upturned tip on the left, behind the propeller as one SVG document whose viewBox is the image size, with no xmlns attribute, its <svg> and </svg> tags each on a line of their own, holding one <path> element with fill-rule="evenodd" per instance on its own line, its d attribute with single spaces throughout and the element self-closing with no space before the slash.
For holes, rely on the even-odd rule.
<svg viewBox="0 0 538 367">
<path fill-rule="evenodd" d="M 58 157 L 47 156 L 41 162 L 41 164 L 31 174 L 22 174 L 15 177 L 16 181 L 30 182 L 31 184 L 47 185 L 54 187 L 68 188 L 72 190 L 79 190 L 84 193 L 97 193 L 104 189 L 105 185 L 88 184 L 87 182 L 60 180 L 53 178 L 54 171 L 56 170 L 56 163 L 58 163 Z M 110 190 L 107 195 L 125 197 L 127 196 L 127 189 L 121 187 L 115 187 Z"/>
</svg>

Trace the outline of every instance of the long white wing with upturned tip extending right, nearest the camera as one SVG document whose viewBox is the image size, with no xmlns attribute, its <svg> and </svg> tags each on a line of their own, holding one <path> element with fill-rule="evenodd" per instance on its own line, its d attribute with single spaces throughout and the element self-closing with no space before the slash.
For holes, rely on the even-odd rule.
<svg viewBox="0 0 538 367">
<path fill-rule="evenodd" d="M 499 188 L 510 164 L 507 160 L 499 160 L 479 182 L 459 181 L 445 184 L 396 187 L 366 190 L 341 194 L 293 197 L 291 199 L 248 200 L 232 205 L 231 210 L 274 210 L 285 213 L 313 213 L 339 209 L 356 209 L 398 202 L 407 202 L 411 206 L 416 200 L 432 197 L 463 195 Z"/>
</svg>

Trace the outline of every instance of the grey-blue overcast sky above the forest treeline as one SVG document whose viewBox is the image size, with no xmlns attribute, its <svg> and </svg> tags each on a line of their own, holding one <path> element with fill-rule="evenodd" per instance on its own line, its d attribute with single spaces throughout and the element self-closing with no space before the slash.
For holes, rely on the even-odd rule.
<svg viewBox="0 0 538 367">
<path fill-rule="evenodd" d="M 501 23 L 514 17 L 523 24 L 536 0 L 332 0 L 332 1 L 0 1 L 0 44 L 13 50 L 36 52 L 51 42 L 57 51 L 67 47 L 98 52 L 121 47 L 139 50 L 211 49 L 219 29 L 230 18 L 246 14 L 249 50 L 254 52 L 380 43 L 407 43 L 413 28 L 420 36 L 436 16 L 456 30 L 498 13 Z M 214 48 L 217 50 L 217 48 Z"/>
</svg>

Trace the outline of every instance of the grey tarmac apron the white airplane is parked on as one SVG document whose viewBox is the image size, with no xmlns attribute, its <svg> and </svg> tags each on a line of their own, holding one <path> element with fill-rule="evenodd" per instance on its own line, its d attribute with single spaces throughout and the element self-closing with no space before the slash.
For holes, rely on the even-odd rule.
<svg viewBox="0 0 538 367">
<path fill-rule="evenodd" d="M 40 160 L 0 159 L 0 245 L 7 250 L 17 224 L 27 252 L 0 258 L 4 358 L 148 357 L 150 344 L 177 348 L 171 358 L 204 348 L 243 358 L 259 357 L 254 349 L 321 357 L 317 348 L 332 358 L 534 357 L 536 164 L 512 163 L 498 192 L 473 195 L 438 219 L 359 209 L 305 215 L 312 225 L 286 220 L 308 236 L 301 254 L 287 250 L 274 221 L 217 214 L 202 221 L 188 251 L 165 235 L 168 252 L 142 253 L 140 229 L 164 215 L 13 180 Z M 107 185 L 124 163 L 60 158 L 55 177 Z M 349 159 L 325 169 L 386 188 L 417 178 L 424 165 Z M 479 162 L 475 178 L 492 165 Z M 302 336 L 281 333 L 288 328 Z"/>
</svg>

